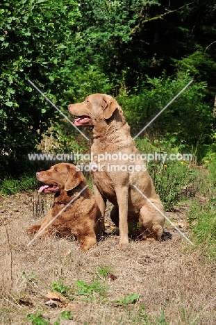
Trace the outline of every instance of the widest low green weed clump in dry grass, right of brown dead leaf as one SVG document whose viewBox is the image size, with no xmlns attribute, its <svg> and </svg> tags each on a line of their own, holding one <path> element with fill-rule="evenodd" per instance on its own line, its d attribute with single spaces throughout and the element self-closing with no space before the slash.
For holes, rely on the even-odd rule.
<svg viewBox="0 0 216 325">
<path fill-rule="evenodd" d="M 77 280 L 76 285 L 79 289 L 78 296 L 85 296 L 86 301 L 93 301 L 97 293 L 104 296 L 108 292 L 108 288 L 99 281 L 92 281 L 92 283 L 87 284 L 84 281 Z"/>
</svg>

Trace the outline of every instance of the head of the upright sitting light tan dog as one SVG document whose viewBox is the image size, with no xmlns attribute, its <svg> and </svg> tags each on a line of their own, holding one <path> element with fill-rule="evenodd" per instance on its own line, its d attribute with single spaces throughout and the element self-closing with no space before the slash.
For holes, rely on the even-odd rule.
<svg viewBox="0 0 216 325">
<path fill-rule="evenodd" d="M 110 119 L 115 110 L 121 110 L 122 113 L 117 101 L 107 94 L 91 94 L 82 103 L 70 104 L 68 110 L 78 116 L 72 122 L 76 126 L 94 126 L 101 119 Z"/>
</svg>

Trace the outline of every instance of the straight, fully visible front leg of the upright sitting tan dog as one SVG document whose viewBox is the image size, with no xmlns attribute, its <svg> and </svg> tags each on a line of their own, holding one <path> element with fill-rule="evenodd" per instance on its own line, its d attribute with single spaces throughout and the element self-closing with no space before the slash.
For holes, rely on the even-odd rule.
<svg viewBox="0 0 216 325">
<path fill-rule="evenodd" d="M 119 206 L 119 247 L 128 244 L 128 185 L 115 188 Z"/>
</svg>

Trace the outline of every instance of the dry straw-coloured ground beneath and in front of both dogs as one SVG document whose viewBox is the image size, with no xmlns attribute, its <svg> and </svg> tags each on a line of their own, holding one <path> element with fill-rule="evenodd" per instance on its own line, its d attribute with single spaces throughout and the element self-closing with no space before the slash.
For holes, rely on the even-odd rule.
<svg viewBox="0 0 216 325">
<path fill-rule="evenodd" d="M 106 234 L 88 253 L 76 240 L 54 235 L 27 246 L 26 228 L 41 221 L 51 200 L 37 192 L 0 197 L 0 324 L 44 324 L 26 319 L 37 313 L 54 324 L 63 311 L 72 319 L 61 319 L 61 325 L 216 324 L 216 265 L 203 258 L 204 248 L 192 248 L 166 222 L 161 242 L 131 240 L 127 251 L 119 251 L 110 206 Z M 187 210 L 188 203 L 181 203 L 166 215 L 190 237 Z M 113 276 L 101 276 L 99 267 L 109 267 Z M 97 280 L 108 290 L 85 299 L 76 294 L 77 280 Z M 47 305 L 53 282 L 74 288 L 74 299 Z M 139 294 L 135 303 L 116 302 L 131 294 Z"/>
</svg>

